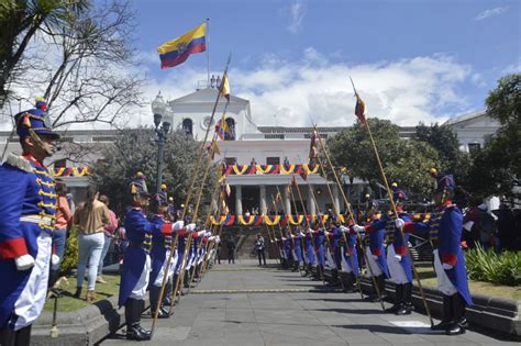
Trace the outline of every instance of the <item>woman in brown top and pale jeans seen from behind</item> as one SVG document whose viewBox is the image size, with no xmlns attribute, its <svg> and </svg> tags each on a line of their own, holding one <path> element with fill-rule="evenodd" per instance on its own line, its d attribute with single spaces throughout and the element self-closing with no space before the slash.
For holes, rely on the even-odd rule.
<svg viewBox="0 0 521 346">
<path fill-rule="evenodd" d="M 87 301 L 96 300 L 96 277 L 104 244 L 104 227 L 110 223 L 109 209 L 98 200 L 98 187 L 90 185 L 87 200 L 76 209 L 74 223 L 78 225 L 79 259 L 76 278 L 76 293 L 80 298 L 87 260 L 89 260 Z"/>
</svg>

